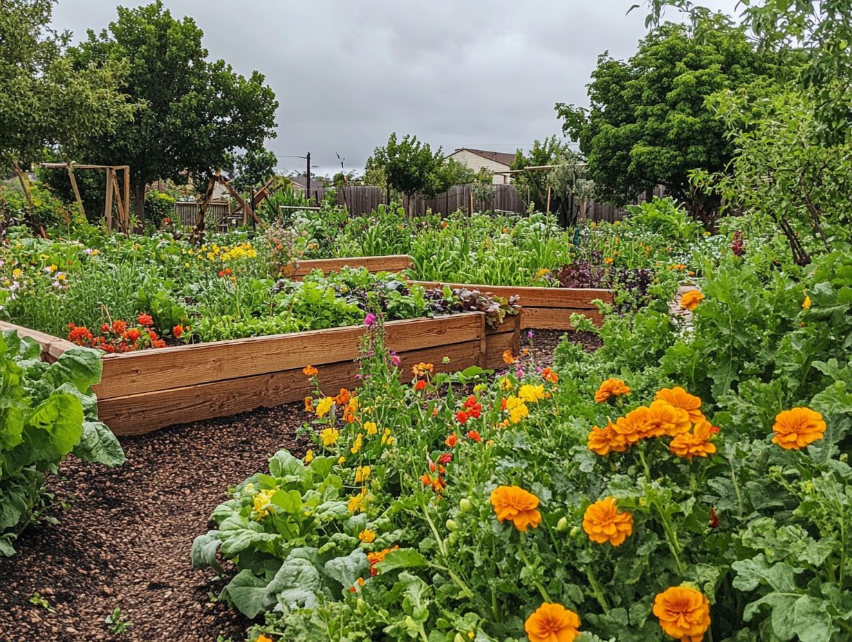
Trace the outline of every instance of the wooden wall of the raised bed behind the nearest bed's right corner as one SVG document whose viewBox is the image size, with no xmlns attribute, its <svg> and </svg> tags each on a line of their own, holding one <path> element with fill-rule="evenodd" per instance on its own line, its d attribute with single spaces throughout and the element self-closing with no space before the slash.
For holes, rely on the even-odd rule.
<svg viewBox="0 0 852 642">
<path fill-rule="evenodd" d="M 423 287 L 466 287 L 494 296 L 509 298 L 520 297 L 521 329 L 530 327 L 541 330 L 570 330 L 571 315 L 580 314 L 589 317 L 596 326 L 603 323 L 603 315 L 598 311 L 596 299 L 606 304 L 613 303 L 612 290 L 571 287 L 523 287 L 523 286 L 485 286 L 459 283 L 439 283 L 437 281 L 410 281 Z"/>
</svg>

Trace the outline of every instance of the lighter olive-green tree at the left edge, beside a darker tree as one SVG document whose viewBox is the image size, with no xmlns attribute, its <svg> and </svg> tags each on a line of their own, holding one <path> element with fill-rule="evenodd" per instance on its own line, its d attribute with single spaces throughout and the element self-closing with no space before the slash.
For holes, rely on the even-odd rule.
<svg viewBox="0 0 852 642">
<path fill-rule="evenodd" d="M 20 163 L 42 159 L 46 147 L 70 157 L 89 136 L 112 136 L 134 110 L 119 92 L 126 64 L 72 67 L 71 34 L 49 28 L 53 5 L 0 3 L 0 168 L 19 176 Z"/>
</svg>

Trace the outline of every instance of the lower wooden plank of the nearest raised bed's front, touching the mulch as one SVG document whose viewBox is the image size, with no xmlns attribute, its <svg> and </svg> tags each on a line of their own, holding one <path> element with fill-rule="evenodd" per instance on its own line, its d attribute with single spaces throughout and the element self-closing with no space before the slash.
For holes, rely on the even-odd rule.
<svg viewBox="0 0 852 642">
<path fill-rule="evenodd" d="M 442 362 L 447 356 L 448 364 Z M 451 372 L 475 365 L 480 359 L 479 338 L 400 354 L 401 376 L 411 379 L 419 361 L 435 365 L 436 372 Z M 320 367 L 320 385 L 334 395 L 357 384 L 358 364 L 339 361 Z M 215 383 L 182 386 L 142 394 L 99 399 L 98 414 L 116 435 L 138 435 L 167 425 L 211 419 L 261 407 L 301 401 L 313 394 L 313 385 L 301 369 L 285 370 Z M 307 415 L 305 419 L 308 419 Z"/>
</svg>

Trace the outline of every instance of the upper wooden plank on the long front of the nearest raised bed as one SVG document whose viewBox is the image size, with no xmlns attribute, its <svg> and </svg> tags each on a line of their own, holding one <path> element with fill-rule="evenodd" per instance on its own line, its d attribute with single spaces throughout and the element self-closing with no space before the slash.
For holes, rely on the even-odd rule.
<svg viewBox="0 0 852 642">
<path fill-rule="evenodd" d="M 405 352 L 481 338 L 481 312 L 436 319 L 389 321 L 385 341 Z M 349 361 L 359 355 L 364 327 L 217 341 L 104 356 L 104 374 L 95 386 L 99 398 L 168 390 L 179 386 L 273 373 L 307 365 Z"/>
</svg>

